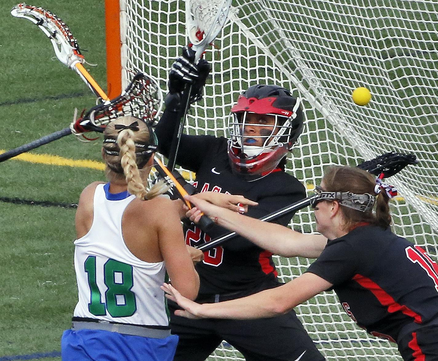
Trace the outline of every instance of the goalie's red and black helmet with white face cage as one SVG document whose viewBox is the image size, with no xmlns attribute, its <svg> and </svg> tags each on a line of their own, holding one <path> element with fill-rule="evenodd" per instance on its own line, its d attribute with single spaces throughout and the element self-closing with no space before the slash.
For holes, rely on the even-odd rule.
<svg viewBox="0 0 438 361">
<path fill-rule="evenodd" d="M 254 137 L 263 138 L 262 145 L 244 142 L 245 126 L 261 126 L 247 121 L 249 113 L 272 116 L 271 132 Z M 297 141 L 303 126 L 300 98 L 293 97 L 286 88 L 277 85 L 248 88 L 239 95 L 229 118 L 228 155 L 233 169 L 254 175 L 272 172 Z"/>
</svg>

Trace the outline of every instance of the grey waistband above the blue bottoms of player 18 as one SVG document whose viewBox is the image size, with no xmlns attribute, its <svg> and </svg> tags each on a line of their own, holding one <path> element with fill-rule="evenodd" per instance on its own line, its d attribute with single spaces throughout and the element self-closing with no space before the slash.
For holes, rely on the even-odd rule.
<svg viewBox="0 0 438 361">
<path fill-rule="evenodd" d="M 108 321 L 85 322 L 73 321 L 71 329 L 102 329 L 104 331 L 118 332 L 125 335 L 142 336 L 151 338 L 166 338 L 170 336 L 170 329 L 153 329 L 134 325 L 124 325 L 120 323 L 110 323 Z"/>
</svg>

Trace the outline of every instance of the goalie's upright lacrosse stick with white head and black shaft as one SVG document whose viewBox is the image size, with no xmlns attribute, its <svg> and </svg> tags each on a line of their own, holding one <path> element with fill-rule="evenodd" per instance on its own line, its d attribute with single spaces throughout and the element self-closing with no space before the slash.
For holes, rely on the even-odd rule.
<svg viewBox="0 0 438 361">
<path fill-rule="evenodd" d="M 186 1 L 186 32 L 191 42 L 191 48 L 195 51 L 195 62 L 201 59 L 202 53 L 207 46 L 216 38 L 223 25 L 225 25 L 231 0 L 187 0 Z M 180 112 L 178 118 L 180 124 L 175 129 L 170 147 L 167 167 L 170 171 L 175 169 L 178 148 L 180 147 L 181 135 L 187 111 L 190 107 L 192 85 L 187 84 L 184 88 Z"/>
</svg>

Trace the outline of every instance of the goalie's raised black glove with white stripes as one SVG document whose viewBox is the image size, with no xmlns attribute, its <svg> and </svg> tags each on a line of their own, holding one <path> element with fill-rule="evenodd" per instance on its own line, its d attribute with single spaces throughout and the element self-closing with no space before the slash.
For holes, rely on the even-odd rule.
<svg viewBox="0 0 438 361">
<path fill-rule="evenodd" d="M 170 94 L 182 92 L 186 84 L 192 85 L 190 103 L 202 98 L 202 90 L 211 71 L 207 60 L 200 59 L 195 63 L 194 58 L 195 51 L 184 46 L 182 55 L 172 64 L 169 73 Z"/>
</svg>

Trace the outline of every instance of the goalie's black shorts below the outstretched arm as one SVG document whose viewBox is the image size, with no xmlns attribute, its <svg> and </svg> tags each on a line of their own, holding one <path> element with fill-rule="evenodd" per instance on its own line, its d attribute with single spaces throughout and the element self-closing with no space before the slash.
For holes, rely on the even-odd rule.
<svg viewBox="0 0 438 361">
<path fill-rule="evenodd" d="M 175 307 L 169 302 L 171 332 L 180 337 L 174 361 L 204 361 L 223 340 L 247 361 L 325 360 L 293 310 L 265 319 L 192 320 L 175 316 Z"/>
</svg>

